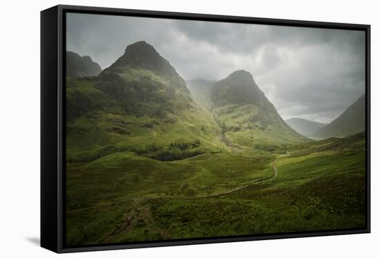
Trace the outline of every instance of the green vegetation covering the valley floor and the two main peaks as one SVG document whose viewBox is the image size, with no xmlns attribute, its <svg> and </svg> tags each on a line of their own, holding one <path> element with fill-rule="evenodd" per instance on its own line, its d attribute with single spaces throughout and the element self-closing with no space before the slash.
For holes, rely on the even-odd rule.
<svg viewBox="0 0 380 258">
<path fill-rule="evenodd" d="M 365 133 L 298 135 L 246 72 L 200 103 L 135 44 L 67 80 L 68 246 L 365 226 Z"/>
</svg>

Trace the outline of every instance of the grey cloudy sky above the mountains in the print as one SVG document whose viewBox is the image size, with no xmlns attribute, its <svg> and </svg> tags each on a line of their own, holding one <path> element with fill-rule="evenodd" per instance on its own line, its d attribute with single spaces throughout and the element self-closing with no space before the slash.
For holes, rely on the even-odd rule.
<svg viewBox="0 0 380 258">
<path fill-rule="evenodd" d="M 89 55 L 103 69 L 144 40 L 184 79 L 251 72 L 283 119 L 328 123 L 365 92 L 362 31 L 67 15 L 67 50 Z"/>
</svg>

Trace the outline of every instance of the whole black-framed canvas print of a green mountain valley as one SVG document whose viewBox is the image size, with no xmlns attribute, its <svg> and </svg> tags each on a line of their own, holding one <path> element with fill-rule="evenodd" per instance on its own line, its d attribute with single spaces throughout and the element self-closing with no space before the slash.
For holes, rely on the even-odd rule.
<svg viewBox="0 0 380 258">
<path fill-rule="evenodd" d="M 370 232 L 370 26 L 41 12 L 41 246 Z"/>
</svg>

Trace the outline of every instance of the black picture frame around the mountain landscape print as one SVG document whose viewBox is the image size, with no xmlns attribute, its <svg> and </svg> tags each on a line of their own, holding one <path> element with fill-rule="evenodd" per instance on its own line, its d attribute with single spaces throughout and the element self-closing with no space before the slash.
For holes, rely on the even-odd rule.
<svg viewBox="0 0 380 258">
<path fill-rule="evenodd" d="M 112 14 L 133 17 L 155 17 L 202 21 L 227 21 L 276 26 L 362 30 L 365 32 L 365 112 L 366 112 L 366 227 L 354 230 L 320 232 L 289 232 L 268 235 L 218 237 L 212 239 L 181 239 L 150 241 L 133 244 L 96 244 L 91 246 L 65 246 L 65 57 L 66 12 Z M 348 235 L 370 232 L 370 26 L 348 23 L 296 21 L 234 17 L 214 14 L 158 12 L 87 6 L 55 6 L 41 11 L 41 246 L 53 252 L 84 252 L 155 246 L 223 243 L 294 237 Z"/>
</svg>

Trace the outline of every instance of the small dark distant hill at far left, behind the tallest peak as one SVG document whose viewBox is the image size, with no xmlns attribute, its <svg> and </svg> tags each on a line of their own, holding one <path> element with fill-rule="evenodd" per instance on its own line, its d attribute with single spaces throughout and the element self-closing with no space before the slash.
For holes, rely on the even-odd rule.
<svg viewBox="0 0 380 258">
<path fill-rule="evenodd" d="M 96 76 L 100 72 L 102 68 L 91 57 L 81 57 L 75 52 L 66 51 L 66 77 Z"/>
</svg>

